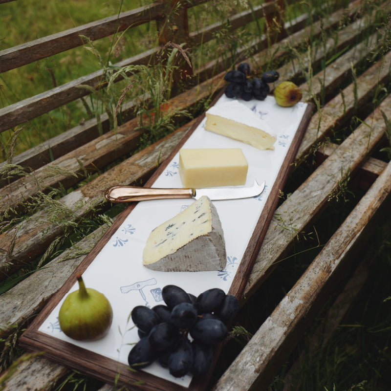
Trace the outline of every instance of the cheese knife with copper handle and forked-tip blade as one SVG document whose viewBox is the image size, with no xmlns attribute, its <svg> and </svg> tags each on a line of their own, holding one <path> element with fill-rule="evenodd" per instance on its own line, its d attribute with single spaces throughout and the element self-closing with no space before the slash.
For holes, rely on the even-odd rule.
<svg viewBox="0 0 391 391">
<path fill-rule="evenodd" d="M 111 202 L 145 201 L 161 198 L 195 198 L 207 195 L 211 200 L 249 198 L 260 195 L 265 188 L 265 182 L 258 184 L 255 180 L 251 187 L 220 187 L 206 189 L 159 189 L 137 186 L 111 186 L 105 192 L 105 198 Z"/>
</svg>

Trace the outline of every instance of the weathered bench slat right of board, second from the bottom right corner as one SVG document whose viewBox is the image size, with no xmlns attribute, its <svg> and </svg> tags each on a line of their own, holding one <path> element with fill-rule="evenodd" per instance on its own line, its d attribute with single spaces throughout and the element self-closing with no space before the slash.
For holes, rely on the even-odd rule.
<svg viewBox="0 0 391 391">
<path fill-rule="evenodd" d="M 276 210 L 270 223 L 257 261 L 254 265 L 246 294 L 252 292 L 271 273 L 275 262 L 282 259 L 293 245 L 295 237 L 305 232 L 326 207 L 328 199 L 338 189 L 341 180 L 353 177 L 369 158 L 384 136 L 385 124 L 381 110 L 391 115 L 391 96 L 385 99 L 364 123 L 360 125 L 332 153 L 326 161 L 311 174 L 305 182 Z M 370 137 L 369 137 L 370 134 Z M 289 216 L 289 221 L 284 221 Z M 281 219 L 279 219 L 281 217 Z M 290 223 L 293 221 L 293 225 Z"/>
</svg>

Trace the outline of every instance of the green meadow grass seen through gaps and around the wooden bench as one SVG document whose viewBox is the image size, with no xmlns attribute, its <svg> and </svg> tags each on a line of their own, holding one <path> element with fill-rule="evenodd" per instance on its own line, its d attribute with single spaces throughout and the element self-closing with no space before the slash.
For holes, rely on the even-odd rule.
<svg viewBox="0 0 391 391">
<path fill-rule="evenodd" d="M 348 2 L 346 1 L 346 4 Z M 375 6 L 375 2 L 369 2 L 369 5 Z M 34 3 L 35 4 L 35 3 Z M 93 4 L 94 6 L 91 6 Z M 217 1 L 219 7 L 216 4 L 212 7 L 211 4 L 204 4 L 195 9 L 192 9 L 190 15 L 190 24 L 194 29 L 200 30 L 204 25 L 213 21 L 213 18 L 222 19 L 225 18 L 227 12 L 233 12 L 230 10 L 229 2 L 219 0 Z M 43 37 L 47 34 L 52 34 L 56 31 L 61 31 L 66 28 L 71 28 L 75 25 L 83 24 L 97 19 L 102 19 L 106 16 L 118 13 L 120 10 L 125 11 L 132 9 L 135 6 L 143 5 L 140 1 L 114 1 L 109 0 L 105 3 L 96 4 L 90 1 L 70 1 L 70 2 L 52 2 L 48 1 L 44 4 L 33 5 L 32 2 L 26 1 L 25 13 L 20 12 L 20 3 L 18 1 L 1 4 L 1 26 L 0 29 L 0 48 L 6 48 L 15 44 L 28 42 L 32 39 Z M 253 4 L 254 5 L 254 4 Z M 328 7 L 327 4 L 324 7 L 323 1 L 309 1 L 301 2 L 297 8 L 289 8 L 288 18 L 294 18 L 299 16 L 303 10 L 310 10 L 327 17 Z M 5 11 L 4 11 L 5 10 Z M 364 9 L 364 11 L 366 11 Z M 363 11 L 363 12 L 364 12 Z M 44 17 L 43 17 L 44 15 Z M 23 22 L 22 22 L 23 20 Z M 4 26 L 14 26 L 14 29 L 7 29 Z M 55 30 L 53 30 L 55 28 Z M 16 31 L 19 29 L 20 31 Z M 262 23 L 253 22 L 248 26 L 248 29 L 240 30 L 237 35 L 229 36 L 226 31 L 221 30 L 213 42 L 202 45 L 197 48 L 193 54 L 193 61 L 195 66 L 200 66 L 203 63 L 216 57 L 216 53 L 219 53 L 226 59 L 229 55 L 232 55 L 235 59 L 235 54 L 239 45 L 250 42 L 252 39 L 259 37 L 264 32 L 264 25 Z M 326 42 L 326 33 L 321 36 L 316 42 L 311 44 L 321 46 Z M 109 61 L 114 62 L 120 59 L 130 57 L 143 50 L 144 45 L 149 45 L 156 40 L 156 32 L 154 25 L 147 24 L 141 26 L 139 29 L 132 30 L 131 33 L 124 34 L 123 40 L 118 43 L 118 46 L 114 50 L 110 51 L 112 47 L 112 41 L 110 39 L 100 40 L 100 42 L 94 42 L 86 44 L 85 46 L 72 49 L 66 53 L 62 53 L 53 56 L 48 59 L 44 59 L 35 64 L 30 64 L 6 72 L 0 75 L 0 97 L 1 105 L 3 107 L 17 102 L 26 97 L 32 96 L 38 92 L 44 91 L 53 87 L 54 83 L 57 85 L 66 83 L 81 74 L 88 74 L 99 69 L 102 64 L 109 64 Z M 383 42 L 387 43 L 385 39 Z M 387 46 L 387 45 L 386 45 Z M 87 50 L 86 50 L 87 48 Z M 88 50 L 89 48 L 89 50 Z M 91 50 L 93 49 L 93 50 Z M 288 49 L 288 48 L 287 48 Z M 303 47 L 297 51 L 297 56 L 303 56 L 308 47 Z M 384 48 L 385 51 L 389 50 L 389 45 Z M 99 61 L 99 56 L 101 61 Z M 291 53 L 295 54 L 295 53 Z M 249 53 L 251 56 L 252 53 Z M 328 61 L 332 59 L 326 59 L 326 65 Z M 76 65 L 76 66 L 75 66 Z M 226 60 L 226 66 L 230 67 L 232 64 Z M 138 84 L 144 83 L 145 80 L 156 81 L 162 76 L 159 72 L 159 76 L 154 75 L 151 77 L 149 72 L 151 69 L 135 69 L 129 68 L 128 71 L 133 72 L 132 77 Z M 135 71 L 140 71 L 136 74 Z M 309 80 L 312 77 L 311 67 L 305 68 L 303 66 L 303 80 Z M 362 71 L 360 69 L 354 70 L 358 74 Z M 147 79 L 143 80 L 142 78 Z M 356 79 L 356 75 L 353 72 L 353 83 Z M 128 79 L 129 83 L 129 79 Z M 166 79 L 163 79 L 163 83 L 166 85 Z M 128 84 L 129 85 L 129 84 Z M 156 85 L 151 85 L 154 89 Z M 382 86 L 386 91 L 390 91 L 390 86 Z M 115 92 L 115 93 L 114 93 Z M 108 94 L 108 99 L 115 96 L 108 105 L 111 105 L 111 109 L 116 107 L 120 96 L 121 90 L 118 88 L 112 95 Z M 165 91 L 167 92 L 167 91 Z M 92 91 L 94 95 L 94 91 Z M 159 100 L 156 100 L 155 106 L 166 99 L 167 95 L 164 95 Z M 100 112 L 105 112 L 105 103 L 102 98 L 97 98 L 95 101 L 93 98 L 89 101 L 89 105 L 100 104 Z M 105 98 L 106 99 L 106 98 Z M 316 103 L 318 110 L 323 105 L 324 97 L 321 97 Z M 381 97 L 379 96 L 379 99 Z M 66 107 L 43 116 L 43 118 L 31 121 L 28 124 L 28 131 L 21 133 L 20 140 L 15 146 L 14 153 L 25 150 L 42 142 L 59 132 L 65 131 L 72 126 L 78 124 L 83 117 L 87 116 L 85 107 L 81 102 L 75 102 Z M 155 126 L 155 134 L 151 133 L 150 138 L 144 140 L 145 145 L 151 143 L 155 139 L 161 137 L 161 133 L 158 132 L 161 127 L 159 120 L 165 121 L 167 118 L 159 116 L 154 117 L 157 122 L 152 124 Z M 386 121 L 386 119 L 385 119 Z M 346 133 L 355 129 L 359 123 L 359 118 L 354 118 L 344 129 Z M 386 121 L 387 123 L 387 121 Z M 114 123 L 113 123 L 113 126 Z M 170 128 L 171 126 L 171 128 Z M 168 126 L 168 131 L 173 129 L 173 125 Z M 388 128 L 389 130 L 389 128 Z M 1 135 L 2 147 L 9 146 L 10 140 L 14 133 L 11 131 L 8 134 Z M 388 136 L 390 137 L 389 133 Z M 342 137 L 341 134 L 334 135 L 333 139 L 329 141 L 338 141 Z M 384 152 L 389 152 L 386 147 Z M 8 151 L 8 150 L 5 150 Z M 381 155 L 384 159 L 384 154 Z M 384 159 L 386 160 L 386 159 Z M 302 164 L 290 177 L 287 185 L 286 192 L 296 189 L 297 184 L 302 183 L 303 178 L 308 177 L 312 172 L 312 165 Z M 89 178 L 87 178 L 89 180 Z M 56 199 L 65 195 L 68 191 L 66 189 L 53 190 L 52 194 L 39 195 L 36 202 L 30 207 L 30 211 L 27 214 L 32 214 L 40 208 L 46 202 L 53 206 L 53 211 L 60 213 Z M 290 287 L 297 281 L 297 279 L 303 274 L 308 263 L 313 260 L 316 254 L 320 251 L 321 247 L 329 239 L 330 233 L 334 232 L 343 219 L 348 215 L 348 212 L 354 207 L 356 199 L 360 198 L 360 191 L 351 187 L 350 184 L 344 182 L 341 183 L 340 193 L 330 198 L 327 211 L 322 215 L 318 225 L 323 229 L 318 230 L 316 235 L 311 233 L 299 233 L 292 232 L 294 236 L 300 236 L 295 248 L 291 254 L 287 256 L 287 260 L 279 262 L 278 267 L 273 272 L 273 279 L 268 279 L 257 293 L 250 298 L 248 303 L 240 311 L 237 326 L 234 329 L 232 339 L 227 343 L 224 348 L 224 354 L 221 356 L 216 373 L 214 374 L 215 380 L 222 373 L 222 371 L 229 365 L 246 341 L 251 338 L 251 335 L 256 332 L 259 325 L 262 323 L 262 319 L 270 314 L 274 307 L 280 302 L 284 294 L 290 289 Z M 357 198 L 355 198 L 355 196 Z M 282 202 L 282 201 L 281 201 Z M 57 205 L 57 208 L 56 208 Z M 65 234 L 57 241 L 53 242 L 53 245 L 48 251 L 39 259 L 34 261 L 30 268 L 26 268 L 23 272 L 26 274 L 37 270 L 44 266 L 45 262 L 53 259 L 56 255 L 60 254 L 66 248 L 77 242 L 81 238 L 85 237 L 88 233 L 92 232 L 98 226 L 104 222 L 111 222 L 111 217 L 116 216 L 123 206 L 116 206 L 104 214 L 97 212 L 94 216 L 94 211 L 91 210 L 91 216 L 82 219 L 83 224 L 78 224 L 79 228 L 76 228 L 73 221 L 69 219 L 68 225 L 66 225 Z M 386 215 L 385 220 L 390 220 L 390 215 Z M 18 217 L 20 219 L 25 216 Z M 19 220 L 18 220 L 19 221 Z M 18 221 L 14 221 L 15 224 Z M 282 222 L 283 223 L 283 222 Z M 12 225 L 12 223 L 11 223 Z M 80 228 L 80 225 L 82 228 Z M 76 228 L 76 229 L 75 229 Z M 352 306 L 349 308 L 348 314 L 343 319 L 341 325 L 333 333 L 329 343 L 317 349 L 316 355 L 309 355 L 310 351 L 309 339 L 304 338 L 300 341 L 299 346 L 295 349 L 292 355 L 284 364 L 280 373 L 275 377 L 273 382 L 269 386 L 270 391 L 278 390 L 282 391 L 284 387 L 284 377 L 289 369 L 290 364 L 297 359 L 301 354 L 301 367 L 295 371 L 291 377 L 293 390 L 336 390 L 336 391 L 348 391 L 348 390 L 379 390 L 386 391 L 390 389 L 391 379 L 388 369 L 391 365 L 391 355 L 389 350 L 390 344 L 390 330 L 391 330 L 391 311 L 390 311 L 390 246 L 391 246 L 391 227 L 390 224 L 376 229 L 374 233 L 375 240 L 370 242 L 370 246 L 367 249 L 366 256 L 372 260 L 369 269 L 369 278 L 365 283 L 361 293 L 354 300 Z M 304 240 L 303 237 L 306 237 Z M 11 279 L 0 283 L 1 292 L 6 292 L 13 284 L 17 283 L 23 276 L 17 274 Z M 278 283 L 276 283 L 278 281 Z M 336 287 L 335 296 L 341 289 L 340 286 Z M 327 308 L 332 304 L 335 296 L 330 297 L 325 308 L 318 314 L 316 321 L 309 330 L 319 330 L 319 327 L 325 323 L 327 316 Z M 15 333 L 10 335 L 6 341 L 3 341 L 7 347 L 3 350 L 1 356 L 1 365 L 6 368 L 21 352 L 17 346 L 17 336 L 20 334 L 20 330 L 15 330 Z M 8 356 L 8 357 L 6 357 Z M 91 389 L 95 390 L 97 387 L 94 379 L 88 379 L 85 376 L 72 372 L 65 380 L 64 383 L 58 386 L 57 390 L 83 390 Z"/>
</svg>

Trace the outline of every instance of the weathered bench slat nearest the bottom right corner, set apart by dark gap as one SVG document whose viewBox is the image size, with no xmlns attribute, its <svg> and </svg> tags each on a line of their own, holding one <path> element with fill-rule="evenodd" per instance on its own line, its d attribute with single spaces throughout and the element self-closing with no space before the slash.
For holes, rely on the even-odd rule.
<svg viewBox="0 0 391 391">
<path fill-rule="evenodd" d="M 318 189 L 315 182 L 309 186 L 314 193 Z M 332 282 L 390 193 L 391 163 L 219 379 L 214 391 L 267 388 L 276 365 L 303 332 L 302 325 L 309 313 L 332 288 Z"/>
</svg>

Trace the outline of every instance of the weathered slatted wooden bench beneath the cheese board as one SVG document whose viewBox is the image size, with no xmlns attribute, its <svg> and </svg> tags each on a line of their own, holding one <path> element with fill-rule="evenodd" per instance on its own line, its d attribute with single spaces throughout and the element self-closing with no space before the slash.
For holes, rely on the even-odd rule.
<svg viewBox="0 0 391 391">
<path fill-rule="evenodd" d="M 213 38 L 221 24 L 210 25 L 196 33 L 189 32 L 187 26 L 186 9 L 205 2 L 185 2 L 173 22 L 179 31 L 176 35 L 167 29 L 165 20 L 171 1 L 156 1 L 124 12 L 118 20 L 114 16 L 3 50 L 0 52 L 0 72 L 54 55 L 54 48 L 65 51 L 81 45 L 80 35 L 95 40 L 118 29 L 143 23 L 146 18 L 156 21 L 157 28 L 163 32 L 159 47 L 124 60 L 119 66 L 153 64 L 157 51 L 167 43 L 186 42 L 195 47 Z M 254 16 L 265 18 L 271 25 L 273 20 L 281 18 L 282 3 L 271 1 L 234 15 L 231 27 L 238 28 Z M 354 270 L 360 264 L 352 278 L 365 276 L 365 271 L 362 271 L 365 270 L 365 260 L 361 259 L 359 251 L 368 239 L 371 227 L 378 222 L 377 217 L 389 206 L 391 191 L 390 164 L 384 159 L 372 157 L 384 145 L 388 130 L 385 117 L 391 117 L 391 97 L 384 97 L 382 101 L 376 99 L 379 96 L 378 86 L 390 81 L 388 64 L 391 57 L 390 53 L 383 53 L 375 61 L 366 61 L 379 45 L 379 34 L 374 26 L 391 10 L 390 1 L 381 3 L 381 8 L 370 14 L 371 23 L 364 21 L 360 13 L 364 1 L 353 1 L 345 8 L 339 8 L 336 1 L 327 17 L 317 19 L 314 16 L 308 27 L 305 27 L 308 15 L 286 22 L 285 28 L 273 37 L 275 42 L 267 49 L 264 48 L 270 37 L 260 37 L 252 43 L 255 54 L 246 61 L 251 65 L 265 64 L 270 53 L 277 53 L 281 79 L 300 83 L 304 91 L 303 100 L 314 103 L 317 109 L 292 165 L 287 189 L 281 189 L 289 196 L 282 199 L 276 209 L 241 304 L 246 306 L 262 284 L 273 279 L 278 263 L 294 254 L 297 240 L 312 231 L 320 217 L 329 213 L 327 205 L 330 199 L 338 196 L 347 182 L 353 182 L 360 188 L 362 196 L 356 200 L 348 216 L 341 218 L 338 229 L 319 248 L 308 268 L 273 312 L 266 314 L 258 325 L 258 331 L 237 358 L 219 378 L 213 379 L 211 389 L 267 388 L 316 312 L 333 294 L 335 284 L 345 278 L 346 270 Z M 298 51 L 307 40 L 327 34 L 329 38 L 317 50 L 310 53 Z M 245 49 L 239 49 L 238 58 L 244 60 Z M 356 69 L 359 69 L 357 75 Z M 192 81 L 198 82 L 178 90 L 169 100 L 171 107 L 194 108 L 199 102 L 210 101 L 224 86 L 226 69 L 219 59 L 199 69 L 186 67 L 186 72 L 189 71 L 192 72 Z M 82 76 L 0 109 L 0 131 L 17 127 L 81 98 L 87 90 L 78 86 L 98 87 L 101 76 L 101 72 Z M 1 179 L 0 190 L 1 223 L 5 227 L 0 234 L 0 276 L 1 281 L 7 281 L 11 275 L 21 276 L 0 298 L 0 338 L 5 341 L 4 354 L 10 355 L 9 367 L 2 368 L 4 373 L 0 385 L 3 390 L 52 390 L 70 373 L 69 369 L 39 355 L 25 352 L 18 358 L 13 357 L 22 330 L 83 261 L 111 221 L 105 222 L 101 218 L 98 220 L 100 226 L 77 243 L 65 239 L 78 227 L 87 224 L 89 219 L 109 211 L 112 205 L 103 194 L 113 184 L 113 178 L 116 184 L 145 183 L 197 119 L 193 118 L 151 146 L 135 152 L 142 130 L 138 128 L 132 109 L 131 102 L 124 103 L 122 114 L 125 121 L 115 130 L 109 129 L 109 117 L 102 114 L 103 134 L 99 134 L 98 121 L 94 118 L 13 156 L 12 160 L 0 166 L 2 172 L 9 174 Z M 354 116 L 361 122 L 348 132 L 344 126 L 351 123 Z M 329 141 L 334 133 L 342 138 L 338 144 Z M 14 175 L 11 163 L 25 168 L 26 174 L 20 177 Z M 297 179 L 299 175 L 295 168 L 304 164 L 310 168 L 304 179 Z M 69 190 L 52 198 L 51 195 L 56 192 L 50 191 L 56 188 Z M 27 201 L 33 198 L 39 200 L 42 207 L 31 211 Z M 31 216 L 8 227 L 7 222 L 12 217 L 23 213 Z M 59 221 L 67 221 L 67 224 L 59 224 Z M 67 248 L 64 248 L 65 245 Z M 61 251 L 56 252 L 57 249 Z M 26 265 L 37 262 L 40 257 L 41 263 L 33 263 L 40 269 L 24 275 Z M 111 389 L 109 384 L 95 385 L 95 390 Z"/>
</svg>

